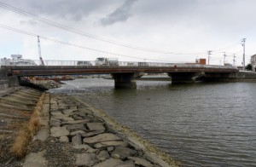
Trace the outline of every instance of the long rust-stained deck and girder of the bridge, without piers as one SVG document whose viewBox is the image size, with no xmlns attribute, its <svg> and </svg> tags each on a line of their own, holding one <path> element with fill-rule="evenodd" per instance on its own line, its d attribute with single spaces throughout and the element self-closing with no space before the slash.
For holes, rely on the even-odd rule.
<svg viewBox="0 0 256 167">
<path fill-rule="evenodd" d="M 223 66 L 2 66 L 8 68 L 9 75 L 34 76 L 34 75 L 75 75 L 86 73 L 164 73 L 164 72 L 238 72 L 236 68 Z"/>
</svg>

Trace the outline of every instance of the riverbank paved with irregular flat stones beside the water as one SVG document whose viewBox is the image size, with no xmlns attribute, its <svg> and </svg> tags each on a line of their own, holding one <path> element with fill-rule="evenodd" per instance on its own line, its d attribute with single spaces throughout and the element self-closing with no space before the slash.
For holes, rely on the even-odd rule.
<svg viewBox="0 0 256 167">
<path fill-rule="evenodd" d="M 1 166 L 177 166 L 135 132 L 76 97 L 47 93 L 40 117 L 42 126 L 26 158 L 7 153 L 14 138 L 5 137 Z"/>
</svg>

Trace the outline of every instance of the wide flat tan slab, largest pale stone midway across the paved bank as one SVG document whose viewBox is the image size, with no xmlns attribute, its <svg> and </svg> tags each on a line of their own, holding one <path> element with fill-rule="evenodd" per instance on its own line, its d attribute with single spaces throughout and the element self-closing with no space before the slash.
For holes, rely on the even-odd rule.
<svg viewBox="0 0 256 167">
<path fill-rule="evenodd" d="M 97 143 L 97 142 L 103 142 L 103 141 L 120 141 L 121 138 L 119 138 L 116 135 L 113 135 L 111 133 L 105 133 L 105 134 L 100 134 L 96 135 L 93 137 L 89 138 L 84 138 L 84 143 Z"/>
</svg>

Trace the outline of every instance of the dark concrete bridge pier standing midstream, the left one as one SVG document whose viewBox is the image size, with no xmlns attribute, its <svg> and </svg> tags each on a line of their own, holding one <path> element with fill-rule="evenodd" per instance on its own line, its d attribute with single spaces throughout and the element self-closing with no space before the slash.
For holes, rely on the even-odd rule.
<svg viewBox="0 0 256 167">
<path fill-rule="evenodd" d="M 127 72 L 127 73 L 112 73 L 114 79 L 115 88 L 137 88 L 135 78 L 141 77 L 139 73 Z"/>
</svg>

